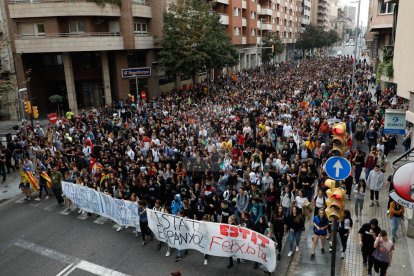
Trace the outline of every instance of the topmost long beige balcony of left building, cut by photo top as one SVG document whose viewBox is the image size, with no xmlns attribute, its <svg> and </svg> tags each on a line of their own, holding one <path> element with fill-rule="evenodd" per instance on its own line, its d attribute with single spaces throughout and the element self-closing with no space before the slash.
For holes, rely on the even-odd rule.
<svg viewBox="0 0 414 276">
<path fill-rule="evenodd" d="M 9 11 L 10 18 L 121 16 L 118 6 L 100 7 L 91 0 L 9 0 Z"/>
</svg>

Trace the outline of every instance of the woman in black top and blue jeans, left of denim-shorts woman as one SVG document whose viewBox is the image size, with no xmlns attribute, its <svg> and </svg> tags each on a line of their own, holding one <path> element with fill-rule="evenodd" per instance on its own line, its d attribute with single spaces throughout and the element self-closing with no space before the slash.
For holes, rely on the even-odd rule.
<svg viewBox="0 0 414 276">
<path fill-rule="evenodd" d="M 293 242 L 296 241 L 296 252 L 299 251 L 299 241 L 302 235 L 302 231 L 305 229 L 305 218 L 302 215 L 301 210 L 297 206 L 293 206 L 290 215 L 286 219 L 287 231 L 289 231 L 289 254 L 288 257 L 293 255 Z"/>
</svg>

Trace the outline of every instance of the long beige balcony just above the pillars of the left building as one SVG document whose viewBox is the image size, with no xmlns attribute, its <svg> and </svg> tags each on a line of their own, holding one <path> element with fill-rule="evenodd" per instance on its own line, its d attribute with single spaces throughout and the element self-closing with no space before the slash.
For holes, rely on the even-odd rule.
<svg viewBox="0 0 414 276">
<path fill-rule="evenodd" d="M 123 50 L 120 33 L 56 33 L 45 36 L 18 36 L 17 53 L 53 53 Z"/>
</svg>

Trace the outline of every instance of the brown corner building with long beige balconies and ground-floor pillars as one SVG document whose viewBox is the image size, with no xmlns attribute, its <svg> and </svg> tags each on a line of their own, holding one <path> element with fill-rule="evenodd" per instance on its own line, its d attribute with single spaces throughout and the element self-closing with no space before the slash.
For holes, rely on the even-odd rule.
<svg viewBox="0 0 414 276">
<path fill-rule="evenodd" d="M 19 88 L 27 87 L 40 114 L 48 98 L 64 96 L 78 111 L 137 92 L 158 95 L 156 63 L 167 0 L 7 0 Z M 122 69 L 151 68 L 151 76 L 123 78 Z"/>
</svg>

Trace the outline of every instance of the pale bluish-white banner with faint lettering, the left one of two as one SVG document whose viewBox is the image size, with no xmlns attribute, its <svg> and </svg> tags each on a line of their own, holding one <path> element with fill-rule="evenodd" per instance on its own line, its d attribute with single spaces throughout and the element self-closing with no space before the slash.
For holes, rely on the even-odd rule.
<svg viewBox="0 0 414 276">
<path fill-rule="evenodd" d="M 80 209 L 115 221 L 119 225 L 139 227 L 138 204 L 136 202 L 115 199 L 94 189 L 62 182 L 63 194 Z"/>
</svg>

